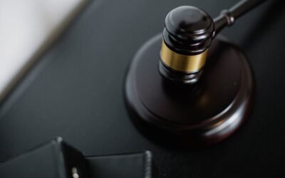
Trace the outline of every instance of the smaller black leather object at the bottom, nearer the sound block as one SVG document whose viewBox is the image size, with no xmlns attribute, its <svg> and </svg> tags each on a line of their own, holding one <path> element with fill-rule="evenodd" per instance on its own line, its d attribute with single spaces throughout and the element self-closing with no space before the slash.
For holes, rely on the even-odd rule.
<svg viewBox="0 0 285 178">
<path fill-rule="evenodd" d="M 92 178 L 152 178 L 157 170 L 150 151 L 86 157 Z"/>
</svg>

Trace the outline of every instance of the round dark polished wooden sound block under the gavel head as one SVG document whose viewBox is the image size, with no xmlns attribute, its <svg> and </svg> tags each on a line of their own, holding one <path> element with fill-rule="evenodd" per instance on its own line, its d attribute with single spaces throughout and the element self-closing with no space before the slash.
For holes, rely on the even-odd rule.
<svg viewBox="0 0 285 178">
<path fill-rule="evenodd" d="M 242 51 L 222 36 L 209 48 L 199 81 L 175 83 L 159 73 L 162 35 L 135 54 L 125 80 L 125 102 L 135 125 L 192 145 L 211 145 L 232 135 L 252 108 L 254 80 Z"/>
</svg>

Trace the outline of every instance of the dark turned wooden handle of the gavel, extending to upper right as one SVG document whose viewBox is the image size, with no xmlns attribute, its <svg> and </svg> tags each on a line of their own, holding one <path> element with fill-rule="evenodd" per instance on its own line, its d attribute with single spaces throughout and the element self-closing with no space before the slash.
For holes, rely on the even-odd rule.
<svg viewBox="0 0 285 178">
<path fill-rule="evenodd" d="M 240 16 L 254 9 L 266 0 L 242 0 L 232 6 L 232 8 L 221 11 L 220 15 L 214 19 L 215 33 L 217 35 L 226 26 L 231 26 Z"/>
</svg>

